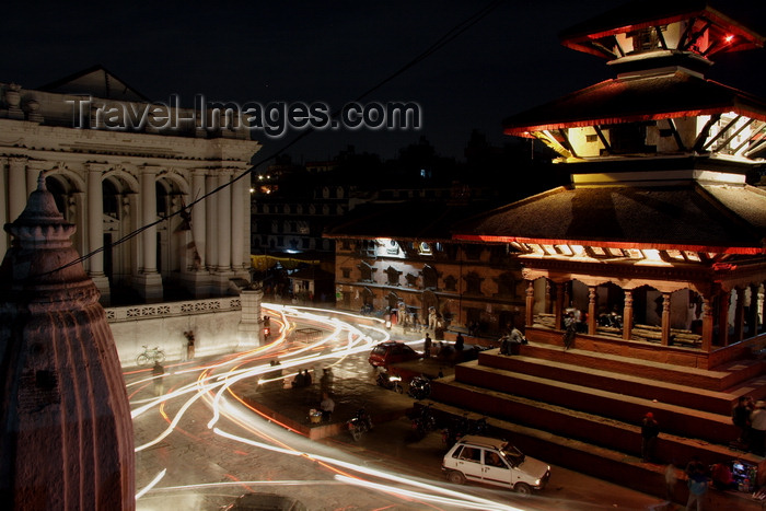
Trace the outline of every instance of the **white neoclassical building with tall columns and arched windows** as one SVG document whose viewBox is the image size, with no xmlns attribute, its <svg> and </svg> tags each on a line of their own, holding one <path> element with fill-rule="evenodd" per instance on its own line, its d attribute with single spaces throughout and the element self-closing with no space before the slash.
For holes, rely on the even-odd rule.
<svg viewBox="0 0 766 511">
<path fill-rule="evenodd" d="M 104 304 L 236 294 L 249 280 L 245 174 L 260 144 L 167 103 L 101 67 L 36 90 L 0 83 L 0 223 L 43 172 Z M 3 232 L 0 254 L 9 243 Z"/>
</svg>

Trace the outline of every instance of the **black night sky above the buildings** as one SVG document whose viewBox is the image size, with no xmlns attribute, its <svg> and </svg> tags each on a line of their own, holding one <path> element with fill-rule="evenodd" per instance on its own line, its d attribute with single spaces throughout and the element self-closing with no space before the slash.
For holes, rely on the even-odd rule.
<svg viewBox="0 0 766 511">
<path fill-rule="evenodd" d="M 487 2 L 12 2 L 0 16 L 0 81 L 36 88 L 102 65 L 146 96 L 186 106 L 196 94 L 245 103 L 324 102 L 339 107 L 393 74 Z M 620 1 L 506 0 L 457 38 L 365 101 L 414 101 L 420 131 L 322 131 L 288 152 L 326 159 L 347 144 L 393 158 L 425 136 L 462 158 L 476 128 L 496 144 L 501 120 L 612 78 L 605 61 L 565 48 L 558 33 Z M 730 1 L 729 12 L 766 24 L 766 2 Z M 764 31 L 762 30 L 762 33 Z M 766 97 L 766 50 L 719 57 L 709 78 Z M 298 135 L 257 137 L 262 153 Z"/>
</svg>

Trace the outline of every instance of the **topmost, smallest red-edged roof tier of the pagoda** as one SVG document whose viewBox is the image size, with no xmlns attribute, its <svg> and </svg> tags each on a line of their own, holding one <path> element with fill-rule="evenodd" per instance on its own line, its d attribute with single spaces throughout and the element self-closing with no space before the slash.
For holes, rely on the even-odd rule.
<svg viewBox="0 0 766 511">
<path fill-rule="evenodd" d="M 561 32 L 559 38 L 564 46 L 604 57 L 605 55 L 590 42 L 690 19 L 710 22 L 713 37 L 734 35 L 735 44 L 726 51 L 759 48 L 766 40 L 755 31 L 711 7 L 706 0 L 636 0 L 579 23 Z"/>
</svg>

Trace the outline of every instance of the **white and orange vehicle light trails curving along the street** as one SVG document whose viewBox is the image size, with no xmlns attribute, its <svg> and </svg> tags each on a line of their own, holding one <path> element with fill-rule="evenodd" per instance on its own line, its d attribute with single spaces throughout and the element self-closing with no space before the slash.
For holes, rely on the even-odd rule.
<svg viewBox="0 0 766 511">
<path fill-rule="evenodd" d="M 266 305 L 266 304 L 265 304 Z M 192 485 L 175 485 L 159 488 L 158 483 L 165 476 L 165 471 L 160 473 L 149 485 L 147 485 L 136 498 L 146 498 L 147 493 L 154 495 L 155 492 L 164 491 L 183 491 L 200 488 L 219 488 L 219 487 L 243 487 L 246 485 L 346 485 L 351 487 L 360 487 L 372 491 L 382 491 L 393 499 L 402 499 L 405 502 L 419 502 L 421 506 L 434 507 L 448 506 L 457 507 L 461 509 L 487 509 L 487 510 L 517 510 L 517 508 L 507 504 L 498 503 L 492 500 L 474 497 L 465 492 L 454 491 L 440 486 L 433 480 L 420 481 L 418 479 L 408 478 L 403 475 L 396 475 L 375 468 L 363 466 L 360 463 L 355 463 L 356 456 L 345 453 L 344 455 L 351 461 L 339 460 L 335 456 L 325 456 L 313 454 L 306 449 L 301 449 L 300 444 L 311 442 L 304 437 L 299 437 L 289 432 L 289 427 L 276 422 L 271 418 L 263 418 L 254 413 L 239 395 L 232 392 L 232 385 L 246 381 L 248 379 L 258 381 L 264 380 L 264 375 L 272 373 L 276 370 L 283 374 L 277 379 L 290 378 L 294 372 L 292 369 L 300 369 L 309 364 L 329 363 L 330 365 L 339 363 L 344 358 L 369 351 L 375 344 L 388 340 L 390 332 L 384 327 L 384 322 L 378 318 L 362 316 L 364 324 L 353 325 L 349 321 L 353 320 L 353 314 L 338 311 L 325 311 L 317 309 L 306 309 L 300 306 L 288 305 L 268 305 L 268 312 L 271 321 L 279 325 L 279 335 L 272 342 L 257 347 L 255 349 L 233 353 L 222 357 L 216 362 L 210 362 L 201 365 L 195 365 L 176 371 L 167 376 L 193 376 L 197 378 L 167 394 L 152 398 L 132 399 L 132 405 L 138 405 L 132 411 L 134 420 L 142 417 L 147 411 L 158 410 L 162 416 L 165 416 L 167 427 L 159 434 L 148 439 L 144 443 L 136 448 L 136 452 L 147 451 L 150 446 L 159 444 L 161 441 L 171 435 L 174 431 L 182 431 L 178 427 L 188 409 L 195 404 L 205 403 L 210 409 L 210 420 L 207 422 L 207 428 L 210 429 L 217 437 L 233 441 L 239 444 L 251 445 L 256 449 L 267 450 L 276 455 L 286 455 L 294 458 L 303 457 L 309 463 L 317 464 L 334 473 L 333 479 L 318 480 L 264 480 L 264 481 L 222 481 L 222 483 L 199 483 Z M 278 315 L 279 317 L 274 317 Z M 344 321 L 344 320 L 346 321 Z M 325 334 L 317 340 L 299 345 L 298 342 L 288 342 L 288 332 L 295 329 L 297 323 L 314 325 Z M 415 341 L 418 342 L 418 341 Z M 298 346 L 298 347 L 295 347 Z M 274 358 L 275 353 L 280 351 L 278 356 L 279 365 L 271 365 L 266 360 Z M 289 374 L 285 374 L 289 373 Z M 126 373 L 128 374 L 128 373 Z M 139 391 L 146 387 L 152 378 L 141 378 L 141 371 L 136 371 L 131 374 L 139 376 L 130 382 L 128 387 L 137 386 L 138 390 L 132 394 L 137 396 Z M 233 396 L 236 402 L 228 399 L 228 396 Z M 169 413 L 169 403 L 179 402 L 181 406 L 174 414 Z M 171 417 L 172 416 L 172 417 Z M 242 428 L 247 437 L 234 434 L 225 430 L 222 422 L 227 419 L 229 423 Z M 164 420 L 163 420 L 164 422 Z M 270 428 L 276 428 L 270 430 Z M 272 432 L 269 432 L 272 431 Z M 277 438 L 277 433 L 286 434 L 283 439 Z M 251 438 L 248 438 L 251 437 Z M 254 440 L 253 437 L 263 439 L 263 441 Z M 309 443 L 306 445 L 313 445 Z M 372 483 L 369 478 L 383 479 L 387 481 Z M 409 488 L 409 489 L 404 489 Z"/>
</svg>

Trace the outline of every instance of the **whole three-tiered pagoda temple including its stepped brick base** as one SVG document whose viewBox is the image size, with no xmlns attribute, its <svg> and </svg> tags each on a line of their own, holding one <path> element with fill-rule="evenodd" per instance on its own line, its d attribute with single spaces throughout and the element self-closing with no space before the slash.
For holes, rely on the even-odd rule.
<svg viewBox="0 0 766 511">
<path fill-rule="evenodd" d="M 754 186 L 766 102 L 706 78 L 764 37 L 707 1 L 642 0 L 561 42 L 615 78 L 513 115 L 504 132 L 555 150 L 570 184 L 453 229 L 517 251 L 529 344 L 436 380 L 434 409 L 486 416 L 532 456 L 646 492 L 693 457 L 739 460 L 744 488 L 766 484 L 764 457 L 732 449 L 731 421 L 739 397 L 766 398 L 766 191 Z M 649 411 L 652 463 L 640 457 Z M 750 498 L 713 493 L 717 509 Z"/>
</svg>

